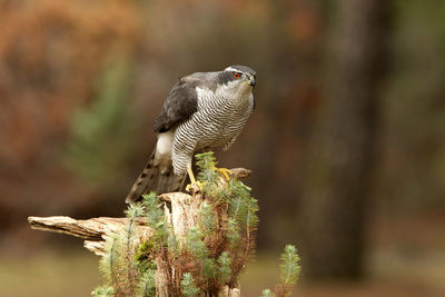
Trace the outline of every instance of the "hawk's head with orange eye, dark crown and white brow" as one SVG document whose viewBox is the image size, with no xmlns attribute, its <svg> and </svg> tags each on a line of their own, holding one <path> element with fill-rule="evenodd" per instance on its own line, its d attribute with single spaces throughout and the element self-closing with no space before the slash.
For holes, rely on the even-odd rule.
<svg viewBox="0 0 445 297">
<path fill-rule="evenodd" d="M 251 91 L 256 83 L 256 71 L 248 66 L 229 66 L 218 76 L 218 82 L 237 91 Z"/>
</svg>

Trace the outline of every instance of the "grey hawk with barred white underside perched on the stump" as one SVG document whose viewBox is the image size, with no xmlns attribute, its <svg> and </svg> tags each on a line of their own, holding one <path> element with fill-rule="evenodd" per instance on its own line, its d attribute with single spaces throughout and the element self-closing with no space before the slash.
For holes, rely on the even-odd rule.
<svg viewBox="0 0 445 297">
<path fill-rule="evenodd" d="M 135 202 L 150 190 L 179 190 L 186 174 L 196 184 L 195 152 L 219 146 L 226 150 L 234 143 L 255 108 L 255 82 L 256 72 L 247 66 L 180 78 L 156 119 L 155 151 L 126 201 Z"/>
</svg>

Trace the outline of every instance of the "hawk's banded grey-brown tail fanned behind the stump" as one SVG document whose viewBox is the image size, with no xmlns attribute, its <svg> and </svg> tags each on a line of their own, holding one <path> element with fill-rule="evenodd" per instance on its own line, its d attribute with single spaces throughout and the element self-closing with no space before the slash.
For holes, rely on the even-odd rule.
<svg viewBox="0 0 445 297">
<path fill-rule="evenodd" d="M 179 191 L 185 187 L 186 175 L 177 176 L 174 174 L 174 168 L 170 164 L 166 167 L 155 160 L 155 151 L 148 160 L 142 172 L 135 181 L 130 192 L 127 195 L 126 202 L 132 204 L 141 198 L 142 194 L 156 191 L 157 195 L 170 191 Z"/>
</svg>

